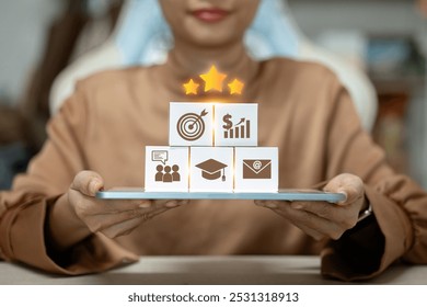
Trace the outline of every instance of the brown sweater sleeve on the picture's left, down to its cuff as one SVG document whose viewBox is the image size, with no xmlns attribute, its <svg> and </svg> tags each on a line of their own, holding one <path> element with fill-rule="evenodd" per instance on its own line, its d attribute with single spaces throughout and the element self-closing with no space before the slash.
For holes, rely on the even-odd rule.
<svg viewBox="0 0 427 307">
<path fill-rule="evenodd" d="M 54 254 L 46 239 L 49 208 L 74 175 L 89 167 L 84 155 L 88 110 L 84 90 L 78 88 L 48 124 L 48 139 L 27 172 L 15 178 L 11 191 L 0 192 L 0 258 L 61 274 L 99 272 L 137 260 L 101 234 L 60 255 Z"/>
</svg>

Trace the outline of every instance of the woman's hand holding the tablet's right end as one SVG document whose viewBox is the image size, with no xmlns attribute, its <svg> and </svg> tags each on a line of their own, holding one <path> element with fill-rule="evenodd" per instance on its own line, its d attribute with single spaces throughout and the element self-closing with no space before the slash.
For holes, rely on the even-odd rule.
<svg viewBox="0 0 427 307">
<path fill-rule="evenodd" d="M 339 174 L 323 189 L 325 192 L 344 193 L 346 200 L 327 202 L 280 202 L 255 201 L 256 205 L 273 209 L 315 240 L 339 239 L 355 227 L 359 213 L 368 206 L 365 200 L 363 182 L 353 174 Z"/>
</svg>

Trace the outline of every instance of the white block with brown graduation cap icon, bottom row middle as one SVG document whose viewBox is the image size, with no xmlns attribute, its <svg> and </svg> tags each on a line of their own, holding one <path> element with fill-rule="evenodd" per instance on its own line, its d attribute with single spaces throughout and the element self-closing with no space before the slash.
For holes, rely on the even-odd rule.
<svg viewBox="0 0 427 307">
<path fill-rule="evenodd" d="M 232 192 L 232 147 L 192 147 L 189 162 L 191 192 Z"/>
</svg>

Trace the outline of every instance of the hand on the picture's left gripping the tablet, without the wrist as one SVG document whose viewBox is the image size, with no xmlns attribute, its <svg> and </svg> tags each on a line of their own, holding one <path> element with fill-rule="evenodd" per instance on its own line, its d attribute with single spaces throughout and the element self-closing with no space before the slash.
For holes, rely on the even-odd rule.
<svg viewBox="0 0 427 307">
<path fill-rule="evenodd" d="M 165 200 L 99 200 L 95 194 L 103 187 L 104 181 L 100 174 L 81 171 L 68 191 L 68 202 L 91 232 L 102 232 L 108 238 L 130 234 L 158 214 L 187 203 Z"/>
</svg>

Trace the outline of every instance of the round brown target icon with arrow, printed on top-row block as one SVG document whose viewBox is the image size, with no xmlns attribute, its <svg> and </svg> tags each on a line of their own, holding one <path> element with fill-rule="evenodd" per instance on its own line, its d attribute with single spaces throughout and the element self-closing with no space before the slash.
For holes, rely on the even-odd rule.
<svg viewBox="0 0 427 307">
<path fill-rule="evenodd" d="M 205 133 L 205 122 L 203 120 L 208 112 L 206 110 L 201 111 L 200 114 L 196 113 L 186 113 L 180 117 L 176 124 L 176 130 L 178 135 L 185 140 L 197 140 Z"/>
</svg>

